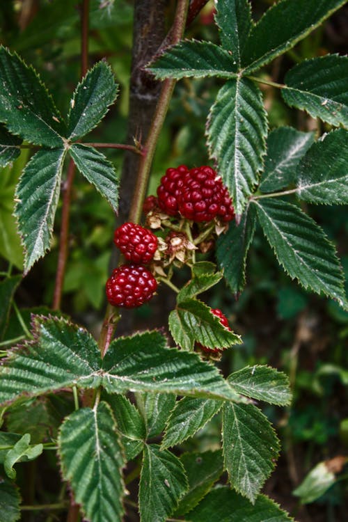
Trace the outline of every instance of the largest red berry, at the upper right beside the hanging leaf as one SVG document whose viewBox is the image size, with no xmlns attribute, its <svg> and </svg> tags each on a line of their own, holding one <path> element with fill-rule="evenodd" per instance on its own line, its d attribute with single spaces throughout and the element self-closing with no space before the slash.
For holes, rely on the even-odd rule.
<svg viewBox="0 0 348 522">
<path fill-rule="evenodd" d="M 234 216 L 228 190 L 213 168 L 191 168 L 182 184 L 177 205 L 185 218 L 200 222 L 219 216 L 221 221 L 230 221 Z"/>
</svg>

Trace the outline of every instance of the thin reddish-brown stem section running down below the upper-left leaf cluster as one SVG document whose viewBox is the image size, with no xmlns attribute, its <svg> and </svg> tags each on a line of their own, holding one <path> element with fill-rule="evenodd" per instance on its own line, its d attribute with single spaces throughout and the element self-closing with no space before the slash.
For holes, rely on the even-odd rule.
<svg viewBox="0 0 348 522">
<path fill-rule="evenodd" d="M 69 239 L 69 221 L 70 221 L 70 197 L 72 191 L 72 180 L 74 180 L 75 165 L 72 159 L 68 166 L 67 179 L 63 187 L 63 207 L 61 234 L 59 236 L 59 253 L 56 272 L 56 284 L 54 286 L 54 297 L 52 308 L 59 310 L 61 308 L 61 298 L 63 292 L 63 283 L 65 276 L 66 260 L 68 258 L 68 239 Z"/>
</svg>

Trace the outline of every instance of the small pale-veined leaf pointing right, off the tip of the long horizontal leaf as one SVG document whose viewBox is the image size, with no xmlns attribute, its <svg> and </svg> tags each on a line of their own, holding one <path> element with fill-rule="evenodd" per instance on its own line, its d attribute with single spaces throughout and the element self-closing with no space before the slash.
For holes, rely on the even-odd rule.
<svg viewBox="0 0 348 522">
<path fill-rule="evenodd" d="M 286 406 L 291 401 L 287 375 L 269 366 L 246 366 L 230 374 L 228 382 L 238 393 L 252 399 L 279 406 Z"/>
</svg>

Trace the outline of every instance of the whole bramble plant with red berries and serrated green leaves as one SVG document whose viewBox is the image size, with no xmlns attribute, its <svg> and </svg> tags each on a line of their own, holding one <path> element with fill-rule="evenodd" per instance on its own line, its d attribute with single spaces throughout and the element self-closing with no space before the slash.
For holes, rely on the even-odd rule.
<svg viewBox="0 0 348 522">
<path fill-rule="evenodd" d="M 21 500 L 23 469 L 35 471 L 35 459 L 43 453 L 52 461 L 53 452 L 63 487 L 42 511 L 33 506 L 38 514 L 61 509 L 70 522 L 80 514 L 91 522 L 116 522 L 134 520 L 139 509 L 142 522 L 292 520 L 261 493 L 280 442 L 259 404 L 290 404 L 289 379 L 260 364 L 223 375 L 221 356 L 242 349 L 237 347 L 242 338 L 224 310 L 210 308 L 200 294 L 221 280 L 232 296 L 242 294 L 258 226 L 280 269 L 304 289 L 348 310 L 335 246 L 306 212 L 308 203 L 348 202 L 348 58 L 325 54 L 300 60 L 281 84 L 264 75 L 265 66 L 321 26 L 345 0 L 280 0 L 257 22 L 248 0 L 217 0 L 220 45 L 185 38 L 185 27 L 205 3 L 177 0 L 175 13 L 167 13 L 173 25 L 140 68 L 145 92 L 163 81 L 157 105 L 148 132 L 141 132 L 139 119 L 127 145 L 86 138 L 120 92 L 106 60 L 87 70 L 88 18 L 92 23 L 92 13 L 108 11 L 112 25 L 117 0 L 114 5 L 81 2 L 82 74 L 65 113 L 31 65 L 14 49 L 0 49 L 0 247 L 8 261 L 0 283 L 0 521 L 17 521 L 21 509 L 30 509 Z M 148 1 L 140 4 L 146 11 Z M 54 14 L 56 5 L 45 9 Z M 143 27 L 150 23 L 142 22 Z M 49 80 L 50 72 L 44 74 Z M 199 129 L 212 166 L 197 159 L 187 166 L 167 164 L 161 180 L 151 177 L 175 82 L 206 77 L 218 79 L 219 86 L 206 127 Z M 269 132 L 264 86 L 278 89 L 287 106 L 318 118 L 325 132 L 289 126 Z M 113 126 L 112 118 L 104 121 Z M 116 175 L 113 161 L 99 148 L 125 149 L 136 158 L 128 207 L 122 183 L 129 180 Z M 97 336 L 61 310 L 65 271 L 70 259 L 77 260 L 68 233 L 75 168 L 115 214 L 123 205 L 120 215 L 125 216 L 115 226 L 121 257 L 104 280 L 109 304 Z M 149 183 L 154 193 L 145 198 Z M 12 212 L 24 248 L 23 274 Z M 100 240 L 108 253 L 111 234 Z M 53 235 L 58 248 L 54 304 L 32 313 L 29 331 L 13 297 L 22 278 L 52 248 Z M 92 256 L 89 262 L 93 265 Z M 175 295 L 168 316 L 171 340 L 164 329 L 134 328 L 132 335 L 115 336 L 125 308 L 151 306 L 153 294 L 166 287 Z M 11 310 L 16 323 L 9 320 Z M 216 420 L 219 448 L 182 451 L 184 441 Z M 137 479 L 136 499 L 127 487 Z"/>
</svg>

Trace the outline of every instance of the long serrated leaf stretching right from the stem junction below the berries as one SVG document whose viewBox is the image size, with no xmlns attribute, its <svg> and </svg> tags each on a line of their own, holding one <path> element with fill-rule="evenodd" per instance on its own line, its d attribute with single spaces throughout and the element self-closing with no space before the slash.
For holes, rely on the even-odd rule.
<svg viewBox="0 0 348 522">
<path fill-rule="evenodd" d="M 131 390 L 239 400 L 216 367 L 197 354 L 167 348 L 158 331 L 113 340 L 102 368 L 99 374 L 108 393 Z"/>
</svg>

